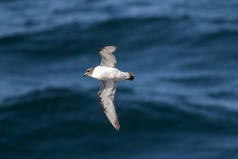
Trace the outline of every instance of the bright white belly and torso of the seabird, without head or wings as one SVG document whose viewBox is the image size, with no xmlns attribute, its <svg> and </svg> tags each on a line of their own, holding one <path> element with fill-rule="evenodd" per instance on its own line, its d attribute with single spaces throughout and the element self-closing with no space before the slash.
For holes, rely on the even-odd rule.
<svg viewBox="0 0 238 159">
<path fill-rule="evenodd" d="M 129 78 L 128 72 L 122 72 L 117 68 L 97 66 L 94 68 L 91 77 L 98 80 L 125 80 Z"/>
</svg>

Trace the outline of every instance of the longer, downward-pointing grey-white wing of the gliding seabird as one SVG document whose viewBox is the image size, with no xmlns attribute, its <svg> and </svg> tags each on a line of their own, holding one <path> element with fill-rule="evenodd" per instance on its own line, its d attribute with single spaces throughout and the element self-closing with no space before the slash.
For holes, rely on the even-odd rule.
<svg viewBox="0 0 238 159">
<path fill-rule="evenodd" d="M 114 95 L 116 93 L 116 81 L 102 81 L 102 86 L 98 92 L 100 104 L 110 123 L 116 130 L 120 129 L 120 124 L 117 118 L 116 109 L 114 106 Z"/>
</svg>

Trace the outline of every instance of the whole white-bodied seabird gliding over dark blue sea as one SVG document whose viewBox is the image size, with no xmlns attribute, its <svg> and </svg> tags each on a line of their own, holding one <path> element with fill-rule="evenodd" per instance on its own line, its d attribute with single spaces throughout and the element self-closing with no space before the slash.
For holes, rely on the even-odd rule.
<svg viewBox="0 0 238 159">
<path fill-rule="evenodd" d="M 116 68 L 117 61 L 114 55 L 116 50 L 116 46 L 106 46 L 100 49 L 101 64 L 88 68 L 83 76 L 89 76 L 102 81 L 98 92 L 100 104 L 110 123 L 116 130 L 119 130 L 120 124 L 114 106 L 116 82 L 120 80 L 134 80 L 135 76 L 132 72 L 122 72 Z"/>
</svg>

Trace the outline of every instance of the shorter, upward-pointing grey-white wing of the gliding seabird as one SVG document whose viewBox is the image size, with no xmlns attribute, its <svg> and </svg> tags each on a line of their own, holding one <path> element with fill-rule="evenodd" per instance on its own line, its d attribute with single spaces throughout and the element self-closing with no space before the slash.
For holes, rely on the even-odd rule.
<svg viewBox="0 0 238 159">
<path fill-rule="evenodd" d="M 99 50 L 99 54 L 102 57 L 100 66 L 116 67 L 117 60 L 114 52 L 117 50 L 116 46 L 105 46 Z"/>
</svg>

